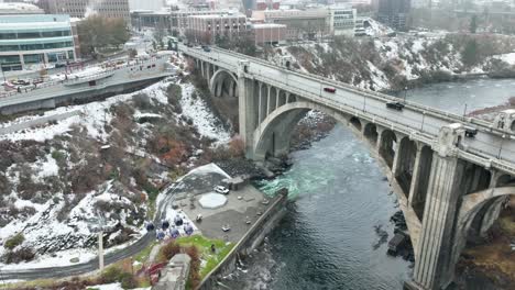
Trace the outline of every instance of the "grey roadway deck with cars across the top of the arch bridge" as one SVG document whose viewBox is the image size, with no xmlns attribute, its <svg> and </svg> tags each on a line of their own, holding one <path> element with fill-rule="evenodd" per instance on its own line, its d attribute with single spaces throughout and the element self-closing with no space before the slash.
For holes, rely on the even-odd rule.
<svg viewBox="0 0 515 290">
<path fill-rule="evenodd" d="M 473 138 L 462 141 L 458 154 L 467 160 L 486 167 L 495 167 L 515 174 L 515 136 L 496 130 L 493 124 L 474 118 L 464 118 L 450 112 L 406 101 L 403 111 L 386 109 L 388 101 L 398 101 L 387 94 L 366 91 L 352 86 L 304 72 L 292 71 L 263 59 L 249 57 L 233 52 L 212 48 L 204 52 L 179 44 L 186 55 L 208 62 L 232 72 L 238 71 L 239 60 L 249 60 L 245 77 L 295 93 L 306 100 L 373 121 L 386 127 L 410 135 L 414 140 L 435 144 L 441 126 L 462 123 L 478 129 Z M 336 93 L 324 91 L 333 87 Z"/>
</svg>

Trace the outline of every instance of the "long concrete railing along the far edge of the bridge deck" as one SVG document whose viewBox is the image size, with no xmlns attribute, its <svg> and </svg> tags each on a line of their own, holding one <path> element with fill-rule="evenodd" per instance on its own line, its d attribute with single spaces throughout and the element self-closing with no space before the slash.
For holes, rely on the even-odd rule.
<svg viewBox="0 0 515 290">
<path fill-rule="evenodd" d="M 184 49 L 184 47 L 183 47 L 183 49 Z M 341 89 L 344 89 L 347 91 L 355 92 L 355 93 L 360 93 L 360 94 L 365 94 L 365 96 L 368 96 L 370 98 L 374 98 L 374 99 L 377 99 L 377 100 L 398 101 L 398 98 L 387 96 L 387 94 L 384 94 L 384 93 L 381 93 L 381 92 L 370 91 L 370 90 L 357 88 L 357 87 L 350 86 L 348 83 L 339 82 L 339 81 L 336 81 L 333 79 L 325 78 L 325 77 L 313 75 L 313 74 L 299 72 L 299 71 L 293 71 L 293 70 L 289 70 L 289 69 L 285 69 L 283 67 L 280 67 L 277 65 L 274 65 L 274 64 L 272 64 L 270 62 L 266 62 L 266 60 L 258 58 L 258 57 L 252 57 L 252 56 L 234 53 L 234 52 L 222 49 L 222 48 L 219 48 L 219 47 L 212 48 L 212 51 L 213 52 L 219 52 L 219 53 L 226 53 L 226 54 L 229 54 L 229 55 L 234 55 L 234 56 L 237 56 L 239 58 L 242 58 L 242 59 L 245 59 L 245 58 L 251 59 L 252 62 L 260 63 L 261 65 L 267 66 L 267 67 L 273 68 L 273 69 L 277 69 L 277 70 L 281 70 L 281 71 L 284 71 L 284 72 L 287 72 L 287 74 L 292 74 L 292 75 L 296 75 L 296 76 L 299 76 L 299 77 L 307 77 L 307 78 L 318 80 L 318 81 L 321 81 L 321 82 L 325 82 L 325 83 L 328 83 L 328 85 L 333 85 L 333 86 L 339 87 Z M 232 67 L 233 69 L 237 69 L 233 64 L 226 63 L 226 62 L 221 60 L 220 57 L 218 57 L 218 59 L 213 59 L 212 57 L 206 56 L 206 54 L 202 53 L 202 52 L 196 52 L 195 48 L 187 48 L 187 52 L 189 54 L 195 54 L 195 55 L 198 55 L 200 57 L 207 57 L 208 59 L 216 60 L 216 62 L 219 62 L 219 63 L 223 63 L 227 66 Z M 207 54 L 209 54 L 209 53 L 207 53 Z M 426 112 L 426 113 L 431 113 L 435 116 L 445 118 L 446 120 L 449 120 L 450 122 L 475 124 L 478 126 L 483 127 L 484 130 L 486 130 L 489 132 L 495 132 L 497 134 L 506 134 L 506 132 L 493 127 L 491 122 L 486 122 L 484 120 L 454 114 L 454 113 L 451 113 L 451 112 L 438 110 L 438 109 L 435 109 L 432 107 L 424 105 L 424 104 L 420 104 L 420 103 L 417 103 L 417 102 L 412 102 L 412 101 L 405 101 L 405 104 L 407 107 L 409 107 L 410 109 L 416 109 L 416 110 L 419 110 L 419 111 L 423 111 L 423 112 Z"/>
</svg>

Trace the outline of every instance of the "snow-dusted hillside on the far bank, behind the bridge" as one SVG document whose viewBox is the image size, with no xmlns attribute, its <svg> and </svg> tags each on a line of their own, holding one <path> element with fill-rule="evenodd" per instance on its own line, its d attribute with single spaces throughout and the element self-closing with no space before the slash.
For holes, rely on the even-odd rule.
<svg viewBox="0 0 515 290">
<path fill-rule="evenodd" d="M 294 67 L 371 90 L 451 80 L 470 74 L 512 77 L 515 37 L 437 33 L 429 36 L 337 37 L 275 48 L 265 58 L 292 57 Z"/>
</svg>

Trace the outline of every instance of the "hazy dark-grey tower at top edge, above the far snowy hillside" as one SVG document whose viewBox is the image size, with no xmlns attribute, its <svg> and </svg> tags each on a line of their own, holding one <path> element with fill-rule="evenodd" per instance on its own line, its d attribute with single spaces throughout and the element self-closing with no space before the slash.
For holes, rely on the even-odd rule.
<svg viewBox="0 0 515 290">
<path fill-rule="evenodd" d="M 410 0 L 381 0 L 377 7 L 377 20 L 395 30 L 406 30 L 406 19 L 410 10 Z"/>
</svg>

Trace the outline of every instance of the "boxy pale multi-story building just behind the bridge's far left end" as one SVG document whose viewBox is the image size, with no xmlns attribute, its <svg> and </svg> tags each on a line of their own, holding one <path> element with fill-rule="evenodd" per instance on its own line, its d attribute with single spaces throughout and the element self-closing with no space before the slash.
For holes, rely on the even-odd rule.
<svg viewBox="0 0 515 290">
<path fill-rule="evenodd" d="M 217 36 L 233 38 L 248 32 L 246 18 L 243 14 L 207 14 L 188 16 L 186 36 L 197 42 L 212 43 Z"/>
</svg>

